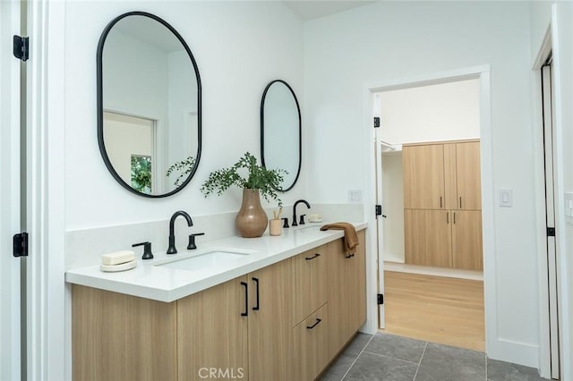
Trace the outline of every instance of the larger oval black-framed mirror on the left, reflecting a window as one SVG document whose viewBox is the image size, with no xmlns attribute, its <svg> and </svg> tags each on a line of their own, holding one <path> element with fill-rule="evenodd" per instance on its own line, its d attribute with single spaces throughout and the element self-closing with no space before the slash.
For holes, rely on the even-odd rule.
<svg viewBox="0 0 573 381">
<path fill-rule="evenodd" d="M 124 13 L 98 44 L 98 144 L 127 190 L 166 197 L 201 157 L 201 79 L 184 39 L 150 13 Z"/>
</svg>

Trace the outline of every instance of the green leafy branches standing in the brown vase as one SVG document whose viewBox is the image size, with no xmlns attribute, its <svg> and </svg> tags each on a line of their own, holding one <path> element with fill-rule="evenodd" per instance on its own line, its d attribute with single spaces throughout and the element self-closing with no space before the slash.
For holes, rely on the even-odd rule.
<svg viewBox="0 0 573 381">
<path fill-rule="evenodd" d="M 246 152 L 243 157 L 229 168 L 218 169 L 211 172 L 209 178 L 201 186 L 205 197 L 213 192 L 220 196 L 232 185 L 243 189 L 256 189 L 261 192 L 267 201 L 273 199 L 282 207 L 278 198 L 278 186 L 283 182 L 284 169 L 267 169 L 257 163 L 257 158 Z"/>
</svg>

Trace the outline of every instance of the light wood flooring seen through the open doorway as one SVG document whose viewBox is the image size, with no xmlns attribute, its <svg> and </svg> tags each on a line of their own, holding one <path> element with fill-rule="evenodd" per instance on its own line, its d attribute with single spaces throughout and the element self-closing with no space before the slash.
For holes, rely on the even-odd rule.
<svg viewBox="0 0 573 381">
<path fill-rule="evenodd" d="M 483 281 L 384 272 L 381 332 L 484 351 Z"/>
</svg>

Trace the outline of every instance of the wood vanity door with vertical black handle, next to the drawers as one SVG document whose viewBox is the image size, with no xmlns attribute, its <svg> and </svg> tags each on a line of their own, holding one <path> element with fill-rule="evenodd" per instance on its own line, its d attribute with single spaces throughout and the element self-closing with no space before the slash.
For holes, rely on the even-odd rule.
<svg viewBox="0 0 573 381">
<path fill-rule="evenodd" d="M 292 380 L 292 262 L 248 276 L 249 380 Z"/>
</svg>

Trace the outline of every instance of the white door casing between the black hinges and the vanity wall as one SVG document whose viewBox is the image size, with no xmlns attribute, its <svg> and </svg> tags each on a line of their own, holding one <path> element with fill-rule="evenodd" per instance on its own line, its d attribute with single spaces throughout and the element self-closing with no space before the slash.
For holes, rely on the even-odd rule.
<svg viewBox="0 0 573 381">
<path fill-rule="evenodd" d="M 64 2 L 28 2 L 27 377 L 71 379 L 64 314 Z M 52 22 L 48 22 L 52 21 Z"/>
</svg>

